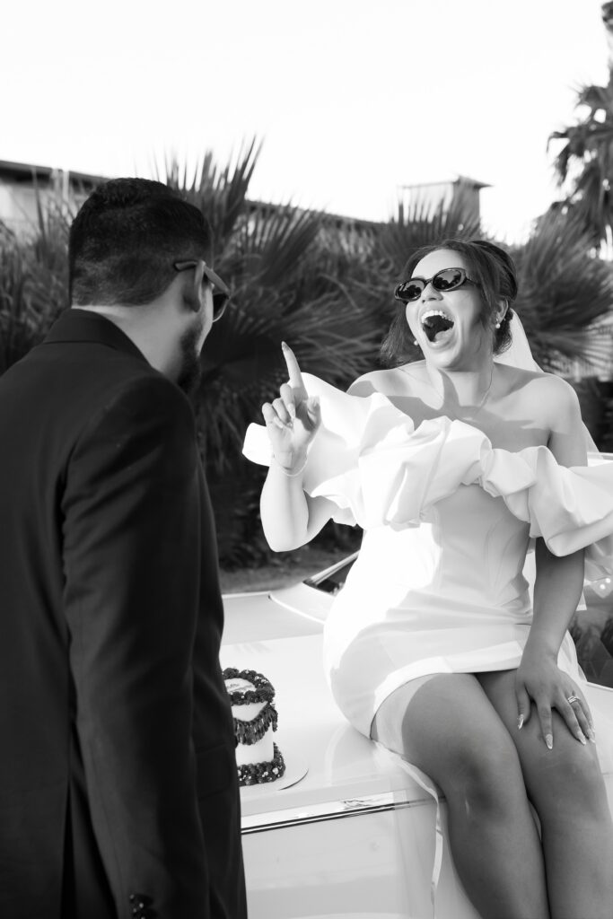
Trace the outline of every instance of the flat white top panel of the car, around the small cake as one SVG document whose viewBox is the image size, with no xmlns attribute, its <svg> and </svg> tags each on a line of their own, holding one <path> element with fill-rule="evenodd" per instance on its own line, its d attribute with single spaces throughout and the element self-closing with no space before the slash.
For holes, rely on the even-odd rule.
<svg viewBox="0 0 613 919">
<path fill-rule="evenodd" d="M 255 670 L 275 687 L 275 741 L 286 760 L 286 778 L 295 779 L 289 787 L 272 782 L 242 789 L 244 825 L 288 809 L 303 814 L 324 805 L 332 812 L 386 796 L 434 806 L 400 757 L 381 751 L 336 708 L 323 665 L 322 619 L 331 598 L 324 596 L 319 609 L 304 602 L 318 594 L 301 584 L 272 594 L 224 597 L 221 666 Z M 613 690 L 590 685 L 589 700 L 613 724 Z M 607 740 L 610 745 L 613 736 Z"/>
</svg>

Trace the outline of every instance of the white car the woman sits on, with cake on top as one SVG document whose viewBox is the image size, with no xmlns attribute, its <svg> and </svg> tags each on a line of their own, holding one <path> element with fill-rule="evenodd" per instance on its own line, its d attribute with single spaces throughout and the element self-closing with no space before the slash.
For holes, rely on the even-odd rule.
<svg viewBox="0 0 613 919">
<path fill-rule="evenodd" d="M 381 754 L 346 722 L 324 678 L 324 619 L 356 557 L 291 587 L 224 596 L 221 665 L 255 670 L 275 686 L 275 741 L 287 766 L 283 780 L 241 789 L 250 919 L 433 915 L 435 800 L 399 758 Z M 596 584 L 573 625 L 588 677 L 609 686 L 612 595 L 610 579 Z M 593 662 L 581 658 L 583 640 Z M 613 688 L 590 684 L 589 701 L 613 724 Z M 613 775 L 606 780 L 613 805 Z M 446 841 L 436 910 L 437 919 L 478 919 Z"/>
</svg>

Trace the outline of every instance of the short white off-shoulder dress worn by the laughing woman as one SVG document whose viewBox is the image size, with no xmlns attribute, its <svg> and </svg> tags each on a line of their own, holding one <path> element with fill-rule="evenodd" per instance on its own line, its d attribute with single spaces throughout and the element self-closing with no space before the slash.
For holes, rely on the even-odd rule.
<svg viewBox="0 0 613 919">
<path fill-rule="evenodd" d="M 324 667 L 337 705 L 369 737 L 383 700 L 415 677 L 518 666 L 531 538 L 556 555 L 585 547 L 590 580 L 610 573 L 613 463 L 566 469 L 548 448 L 492 448 L 445 416 L 415 428 L 380 393 L 303 379 L 322 406 L 304 489 L 364 528 L 324 626 Z M 250 425 L 244 453 L 269 462 L 266 428 Z M 585 683 L 568 633 L 558 663 Z"/>
</svg>

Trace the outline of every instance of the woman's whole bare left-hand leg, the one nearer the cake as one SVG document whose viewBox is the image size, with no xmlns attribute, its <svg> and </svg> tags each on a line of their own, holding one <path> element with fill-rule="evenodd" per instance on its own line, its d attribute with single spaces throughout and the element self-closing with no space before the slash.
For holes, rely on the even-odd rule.
<svg viewBox="0 0 613 919">
<path fill-rule="evenodd" d="M 448 804 L 449 843 L 483 919 L 548 919 L 542 850 L 517 751 L 471 674 L 401 686 L 372 736 L 432 777 Z M 408 700 L 408 701 L 407 701 Z"/>
</svg>

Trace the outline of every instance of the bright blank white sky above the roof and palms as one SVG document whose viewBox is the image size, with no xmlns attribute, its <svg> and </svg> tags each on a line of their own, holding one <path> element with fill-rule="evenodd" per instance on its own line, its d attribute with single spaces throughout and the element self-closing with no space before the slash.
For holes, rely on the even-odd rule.
<svg viewBox="0 0 613 919">
<path fill-rule="evenodd" d="M 0 159 L 151 176 L 254 134 L 255 199 L 381 220 L 477 178 L 517 239 L 557 197 L 552 130 L 606 84 L 601 0 L 33 0 L 0 33 Z"/>
</svg>

